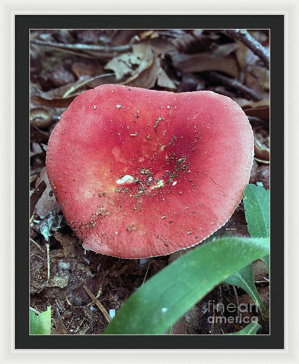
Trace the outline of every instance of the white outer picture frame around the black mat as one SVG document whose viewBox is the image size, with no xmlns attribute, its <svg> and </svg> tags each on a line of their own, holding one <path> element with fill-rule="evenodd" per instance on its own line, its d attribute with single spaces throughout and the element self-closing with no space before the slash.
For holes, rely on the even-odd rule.
<svg viewBox="0 0 299 364">
<path fill-rule="evenodd" d="M 69 8 L 72 11 L 69 11 Z M 101 9 L 98 11 L 97 9 Z M 53 10 L 55 9 L 55 10 Z M 95 10 L 96 9 L 96 10 Z M 132 10 L 131 10 L 132 9 Z M 159 9 L 157 11 L 157 9 Z M 169 10 L 171 9 L 171 10 Z M 285 15 L 285 350 L 15 350 L 14 349 L 14 15 L 15 14 Z M 0 363 L 299 363 L 299 2 L 298 0 L 135 0 L 42 2 L 0 0 Z M 279 125 L 277 126 L 279 127 Z M 17 244 L 26 244 L 18 241 Z M 283 243 L 283 242 L 282 242 Z M 291 245 L 292 244 L 292 245 Z M 10 276 L 9 276 L 10 274 Z M 21 298 L 20 298 L 21 299 Z M 283 314 L 283 313 L 282 313 Z M 294 315 L 294 316 L 293 316 Z M 273 318 L 275 319 L 275 318 Z M 200 338 L 199 338 L 200 339 Z M 262 337 L 261 337 L 262 340 Z M 199 359 L 200 358 L 200 359 Z"/>
</svg>

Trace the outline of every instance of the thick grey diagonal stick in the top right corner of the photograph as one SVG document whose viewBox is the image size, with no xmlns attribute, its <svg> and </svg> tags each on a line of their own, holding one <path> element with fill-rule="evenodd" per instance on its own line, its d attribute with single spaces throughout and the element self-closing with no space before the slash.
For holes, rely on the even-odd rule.
<svg viewBox="0 0 299 364">
<path fill-rule="evenodd" d="M 262 46 L 246 29 L 227 29 L 225 32 L 234 38 L 240 40 L 250 50 L 253 51 L 264 63 L 267 69 L 270 69 L 270 56 L 265 47 Z"/>
</svg>

